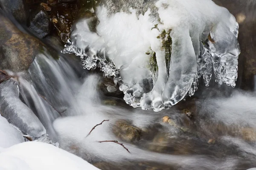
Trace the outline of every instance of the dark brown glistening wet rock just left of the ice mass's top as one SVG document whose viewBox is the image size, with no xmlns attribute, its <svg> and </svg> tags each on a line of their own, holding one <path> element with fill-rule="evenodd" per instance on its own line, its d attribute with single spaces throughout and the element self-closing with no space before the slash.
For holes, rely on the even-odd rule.
<svg viewBox="0 0 256 170">
<path fill-rule="evenodd" d="M 76 18 L 76 4 L 63 4 L 52 7 L 51 21 L 61 41 L 66 43 L 70 37 L 71 27 Z"/>
</svg>

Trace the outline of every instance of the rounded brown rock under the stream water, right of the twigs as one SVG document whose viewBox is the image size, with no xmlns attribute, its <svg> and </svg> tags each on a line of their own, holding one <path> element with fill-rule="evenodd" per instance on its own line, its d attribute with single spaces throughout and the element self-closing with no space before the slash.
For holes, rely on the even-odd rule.
<svg viewBox="0 0 256 170">
<path fill-rule="evenodd" d="M 138 142 L 141 137 L 140 128 L 124 120 L 116 121 L 113 125 L 112 132 L 125 142 Z"/>
</svg>

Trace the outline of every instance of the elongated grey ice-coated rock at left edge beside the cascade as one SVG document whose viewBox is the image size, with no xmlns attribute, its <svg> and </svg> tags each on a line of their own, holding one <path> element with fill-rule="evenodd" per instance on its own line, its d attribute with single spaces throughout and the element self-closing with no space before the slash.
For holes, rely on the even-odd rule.
<svg viewBox="0 0 256 170">
<path fill-rule="evenodd" d="M 34 138 L 46 135 L 46 130 L 37 116 L 19 98 L 16 82 L 6 80 L 0 84 L 0 111 L 12 125 L 22 133 Z"/>
</svg>

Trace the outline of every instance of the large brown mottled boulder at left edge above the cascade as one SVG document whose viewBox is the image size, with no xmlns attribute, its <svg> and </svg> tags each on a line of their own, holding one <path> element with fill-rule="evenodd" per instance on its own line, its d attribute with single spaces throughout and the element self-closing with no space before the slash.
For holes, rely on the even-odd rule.
<svg viewBox="0 0 256 170">
<path fill-rule="evenodd" d="M 0 69 L 15 72 L 28 69 L 41 42 L 18 30 L 6 17 L 0 16 L 0 21 Z"/>
</svg>

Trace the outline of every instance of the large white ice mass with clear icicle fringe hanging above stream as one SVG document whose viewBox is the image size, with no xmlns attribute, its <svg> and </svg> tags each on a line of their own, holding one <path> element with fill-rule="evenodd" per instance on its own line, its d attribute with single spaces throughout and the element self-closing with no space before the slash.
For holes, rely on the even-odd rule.
<svg viewBox="0 0 256 170">
<path fill-rule="evenodd" d="M 99 67 L 104 77 L 114 77 L 133 107 L 170 108 L 195 93 L 201 76 L 207 86 L 214 74 L 215 82 L 235 87 L 235 17 L 211 0 L 158 0 L 154 6 L 157 12 L 138 14 L 100 5 L 96 32 L 90 19 L 81 20 L 62 52 L 80 56 L 85 69 Z"/>
</svg>

